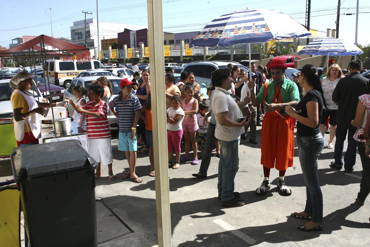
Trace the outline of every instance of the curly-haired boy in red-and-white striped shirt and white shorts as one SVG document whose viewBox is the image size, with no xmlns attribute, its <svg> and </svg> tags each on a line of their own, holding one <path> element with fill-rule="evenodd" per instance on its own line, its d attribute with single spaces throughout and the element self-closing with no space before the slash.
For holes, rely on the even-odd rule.
<svg viewBox="0 0 370 247">
<path fill-rule="evenodd" d="M 95 177 L 102 177 L 100 164 L 103 164 L 108 166 L 108 180 L 112 181 L 115 176 L 112 171 L 111 131 L 107 119 L 107 103 L 101 99 L 104 95 L 104 88 L 98 83 L 93 83 L 90 86 L 89 94 L 91 101 L 82 107 L 76 106 L 72 99 L 66 99 L 70 100 L 75 111 L 86 114 L 89 152 L 91 157 L 98 162 Z"/>
</svg>

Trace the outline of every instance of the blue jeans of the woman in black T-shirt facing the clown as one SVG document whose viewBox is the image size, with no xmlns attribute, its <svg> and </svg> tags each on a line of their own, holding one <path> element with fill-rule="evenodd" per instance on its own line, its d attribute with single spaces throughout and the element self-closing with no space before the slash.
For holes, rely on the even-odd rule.
<svg viewBox="0 0 370 247">
<path fill-rule="evenodd" d="M 315 223 L 323 222 L 323 194 L 317 176 L 317 159 L 324 147 L 321 133 L 316 136 L 297 136 L 299 162 L 306 183 L 305 213 L 312 215 Z"/>
</svg>

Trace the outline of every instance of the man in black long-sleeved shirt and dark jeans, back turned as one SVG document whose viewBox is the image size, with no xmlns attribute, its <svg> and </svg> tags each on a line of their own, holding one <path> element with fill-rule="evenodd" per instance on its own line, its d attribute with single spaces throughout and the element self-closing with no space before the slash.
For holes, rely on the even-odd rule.
<svg viewBox="0 0 370 247">
<path fill-rule="evenodd" d="M 357 128 L 351 125 L 356 115 L 359 96 L 366 93 L 369 79 L 360 75 L 362 62 L 352 60 L 349 64 L 350 75 L 339 80 L 333 91 L 333 101 L 338 106 L 336 141 L 334 147 L 334 160 L 331 167 L 341 169 L 343 166 L 344 140 L 348 131 L 348 146 L 344 155 L 344 171 L 350 173 L 356 164 L 357 141 L 353 135 Z"/>
</svg>

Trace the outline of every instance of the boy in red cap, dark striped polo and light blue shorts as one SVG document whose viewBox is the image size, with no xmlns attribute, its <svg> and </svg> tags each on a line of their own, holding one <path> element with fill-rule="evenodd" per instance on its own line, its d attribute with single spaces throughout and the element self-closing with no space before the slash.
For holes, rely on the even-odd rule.
<svg viewBox="0 0 370 247">
<path fill-rule="evenodd" d="M 135 167 L 137 151 L 136 126 L 140 118 L 140 110 L 142 107 L 138 97 L 131 93 L 134 85 L 135 82 L 122 79 L 120 83 L 122 94 L 116 96 L 109 103 L 109 108 L 118 118 L 118 130 L 120 131 L 118 150 L 125 151 L 129 166 L 129 170 L 122 178 L 130 177 L 136 183 L 141 183 L 142 179 L 135 174 Z M 118 107 L 118 113 L 115 111 L 115 107 Z"/>
</svg>

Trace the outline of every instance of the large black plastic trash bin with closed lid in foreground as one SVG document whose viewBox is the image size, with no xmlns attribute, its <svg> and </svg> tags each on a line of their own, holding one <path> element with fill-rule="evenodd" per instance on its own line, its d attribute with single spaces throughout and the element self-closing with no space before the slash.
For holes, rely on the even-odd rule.
<svg viewBox="0 0 370 247">
<path fill-rule="evenodd" d="M 10 159 L 30 246 L 97 246 L 97 162 L 80 141 L 17 147 Z"/>
</svg>

